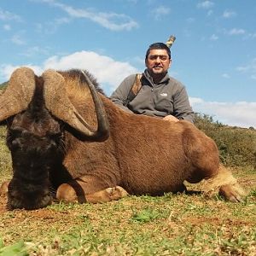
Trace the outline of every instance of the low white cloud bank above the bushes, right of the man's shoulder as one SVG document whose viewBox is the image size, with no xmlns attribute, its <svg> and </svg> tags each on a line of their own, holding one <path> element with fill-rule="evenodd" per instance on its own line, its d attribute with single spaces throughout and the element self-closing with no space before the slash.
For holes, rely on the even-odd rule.
<svg viewBox="0 0 256 256">
<path fill-rule="evenodd" d="M 189 98 L 195 112 L 206 113 L 224 125 L 256 128 L 256 102 L 205 102 L 201 98 Z"/>
</svg>

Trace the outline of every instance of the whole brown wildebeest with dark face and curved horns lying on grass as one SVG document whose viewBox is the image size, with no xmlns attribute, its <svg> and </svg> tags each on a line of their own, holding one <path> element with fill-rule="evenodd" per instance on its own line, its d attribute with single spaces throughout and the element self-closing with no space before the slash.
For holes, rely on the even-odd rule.
<svg viewBox="0 0 256 256">
<path fill-rule="evenodd" d="M 207 179 L 207 191 L 240 201 L 242 189 L 219 165 L 210 137 L 176 123 L 125 113 L 87 72 L 20 67 L 0 96 L 13 177 L 3 184 L 9 208 L 63 201 L 111 201 L 127 194 L 185 190 Z M 5 188 L 5 189 L 4 189 Z"/>
</svg>

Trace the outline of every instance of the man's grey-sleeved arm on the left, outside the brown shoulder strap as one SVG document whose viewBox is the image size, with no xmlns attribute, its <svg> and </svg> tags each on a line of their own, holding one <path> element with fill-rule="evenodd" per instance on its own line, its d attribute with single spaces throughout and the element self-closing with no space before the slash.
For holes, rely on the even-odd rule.
<svg viewBox="0 0 256 256">
<path fill-rule="evenodd" d="M 113 91 L 113 94 L 110 96 L 110 99 L 113 103 L 115 103 L 119 108 L 122 108 L 126 112 L 131 112 L 129 108 L 125 106 L 127 97 L 131 90 L 132 84 L 134 84 L 136 74 L 130 75 L 126 79 L 123 80 L 119 87 Z"/>
</svg>

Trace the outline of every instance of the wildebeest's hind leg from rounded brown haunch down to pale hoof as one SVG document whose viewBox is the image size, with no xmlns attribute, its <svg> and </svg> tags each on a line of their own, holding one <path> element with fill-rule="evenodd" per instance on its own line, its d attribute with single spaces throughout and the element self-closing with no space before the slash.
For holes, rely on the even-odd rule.
<svg viewBox="0 0 256 256">
<path fill-rule="evenodd" d="M 193 143 L 188 143 L 186 154 L 194 166 L 187 181 L 198 183 L 206 179 L 204 184 L 205 195 L 219 194 L 227 201 L 241 201 L 245 195 L 232 173 L 219 164 L 218 148 L 211 139 L 201 135 L 195 137 Z"/>
</svg>

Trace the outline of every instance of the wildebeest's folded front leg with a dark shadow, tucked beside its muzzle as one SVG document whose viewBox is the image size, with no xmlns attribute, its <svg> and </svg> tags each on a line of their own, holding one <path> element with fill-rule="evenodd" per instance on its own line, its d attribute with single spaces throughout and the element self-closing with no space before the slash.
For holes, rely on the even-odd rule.
<svg viewBox="0 0 256 256">
<path fill-rule="evenodd" d="M 57 189 L 56 198 L 60 201 L 97 203 L 119 200 L 128 195 L 125 189 L 120 186 L 100 189 L 102 186 L 99 185 L 102 185 L 102 182 L 96 177 L 83 177 L 83 179 L 77 178 L 69 183 L 62 183 Z"/>
</svg>

